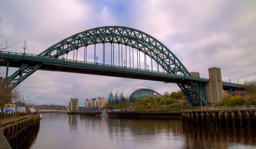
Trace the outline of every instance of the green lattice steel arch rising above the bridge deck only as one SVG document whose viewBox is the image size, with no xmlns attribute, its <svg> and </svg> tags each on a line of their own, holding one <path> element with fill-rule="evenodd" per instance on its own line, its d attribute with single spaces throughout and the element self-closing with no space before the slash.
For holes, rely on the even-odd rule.
<svg viewBox="0 0 256 149">
<path fill-rule="evenodd" d="M 160 41 L 137 29 L 122 26 L 105 26 L 89 29 L 52 45 L 38 56 L 61 57 L 80 47 L 98 43 L 117 43 L 145 52 L 167 73 L 190 76 L 179 59 Z"/>
</svg>

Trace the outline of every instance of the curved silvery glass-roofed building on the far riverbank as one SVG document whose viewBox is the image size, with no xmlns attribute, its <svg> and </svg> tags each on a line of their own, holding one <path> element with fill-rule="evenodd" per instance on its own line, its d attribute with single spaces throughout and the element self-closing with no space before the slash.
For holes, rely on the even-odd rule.
<svg viewBox="0 0 256 149">
<path fill-rule="evenodd" d="M 143 99 L 151 96 L 156 96 L 159 92 L 146 88 L 143 86 L 124 86 L 114 88 L 108 96 L 108 104 L 113 105 L 117 103 L 132 102 L 138 99 Z"/>
</svg>

